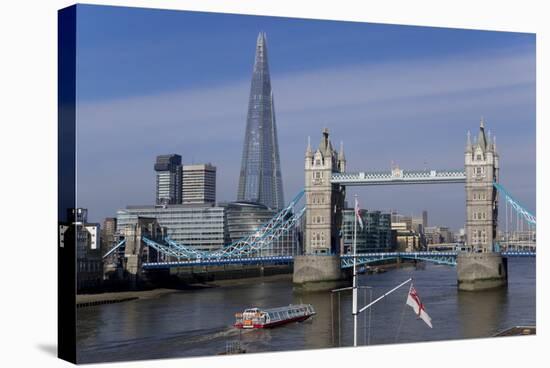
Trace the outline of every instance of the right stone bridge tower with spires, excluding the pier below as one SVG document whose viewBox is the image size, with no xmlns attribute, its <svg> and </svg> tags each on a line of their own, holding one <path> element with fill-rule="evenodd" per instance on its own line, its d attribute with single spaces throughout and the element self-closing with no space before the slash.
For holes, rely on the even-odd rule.
<svg viewBox="0 0 550 368">
<path fill-rule="evenodd" d="M 466 142 L 466 242 L 474 252 L 492 252 L 497 236 L 498 198 L 493 182 L 498 182 L 496 143 L 485 134 L 481 120 L 477 139 Z"/>
</svg>

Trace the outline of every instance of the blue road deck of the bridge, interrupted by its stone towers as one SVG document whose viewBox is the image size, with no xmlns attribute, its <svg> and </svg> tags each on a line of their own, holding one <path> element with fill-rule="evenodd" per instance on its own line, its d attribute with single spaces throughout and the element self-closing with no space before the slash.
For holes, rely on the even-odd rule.
<svg viewBox="0 0 550 368">
<path fill-rule="evenodd" d="M 357 264 L 369 264 L 390 259 L 415 259 L 419 261 L 456 266 L 458 252 L 387 252 L 357 254 Z M 505 257 L 535 257 L 536 252 L 509 251 L 502 252 Z M 294 261 L 293 256 L 263 256 L 263 257 L 234 257 L 234 258 L 201 258 L 194 260 L 179 260 L 171 262 L 144 262 L 144 270 L 167 269 L 172 267 L 193 266 L 221 266 L 229 264 L 289 264 Z M 353 266 L 353 255 L 341 256 L 342 268 Z"/>
</svg>

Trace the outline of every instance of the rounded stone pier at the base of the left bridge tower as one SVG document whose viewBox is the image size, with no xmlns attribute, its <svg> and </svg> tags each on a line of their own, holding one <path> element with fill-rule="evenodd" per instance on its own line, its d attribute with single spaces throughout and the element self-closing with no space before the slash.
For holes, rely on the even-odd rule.
<svg viewBox="0 0 550 368">
<path fill-rule="evenodd" d="M 338 255 L 304 255 L 294 257 L 292 282 L 296 290 L 331 290 L 348 283 Z"/>
</svg>

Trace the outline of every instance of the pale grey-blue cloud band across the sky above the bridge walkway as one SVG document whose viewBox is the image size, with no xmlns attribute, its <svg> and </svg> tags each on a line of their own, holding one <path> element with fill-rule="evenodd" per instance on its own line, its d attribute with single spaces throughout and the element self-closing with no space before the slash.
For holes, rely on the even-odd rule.
<svg viewBox="0 0 550 368">
<path fill-rule="evenodd" d="M 523 160 L 534 187 L 534 148 L 523 149 L 534 145 L 531 49 L 345 65 L 272 75 L 272 80 L 287 197 L 303 186 L 306 137 L 311 135 L 315 142 L 325 125 L 335 143 L 345 141 L 350 169 L 384 168 L 391 159 L 422 165 L 426 158 L 433 165 L 460 167 L 465 131 L 476 129 L 481 115 L 498 135 L 503 157 L 510 162 Z M 218 199 L 233 200 L 249 86 L 249 80 L 241 80 L 212 88 L 80 102 L 81 203 L 90 207 L 92 215 L 104 217 L 126 204 L 152 202 L 152 162 L 156 155 L 170 152 L 181 153 L 186 162 L 218 166 Z M 518 129 L 525 133 L 514 132 Z M 124 179 L 114 181 L 113 187 L 113 181 L 105 179 L 113 176 Z M 507 180 L 514 187 L 513 176 Z M 132 191 L 124 190 L 127 185 Z M 101 204 L 96 205 L 97 197 Z M 462 217 L 450 215 L 448 220 L 456 224 Z"/>
</svg>

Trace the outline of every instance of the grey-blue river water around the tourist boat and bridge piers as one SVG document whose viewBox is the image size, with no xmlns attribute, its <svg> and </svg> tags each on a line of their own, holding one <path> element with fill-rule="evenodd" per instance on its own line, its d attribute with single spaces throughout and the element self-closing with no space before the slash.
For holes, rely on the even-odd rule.
<svg viewBox="0 0 550 368">
<path fill-rule="evenodd" d="M 405 305 L 405 286 L 359 317 L 359 345 L 488 337 L 535 325 L 535 259 L 510 259 L 508 268 L 507 288 L 476 293 L 458 291 L 448 266 L 361 275 L 359 284 L 372 288 L 360 291 L 360 306 L 412 277 L 433 329 Z M 232 328 L 234 313 L 247 307 L 290 303 L 311 303 L 317 315 L 274 329 Z M 352 321 L 350 292 L 294 293 L 289 277 L 79 309 L 77 356 L 79 363 L 208 356 L 236 340 L 247 353 L 351 346 Z"/>
</svg>

